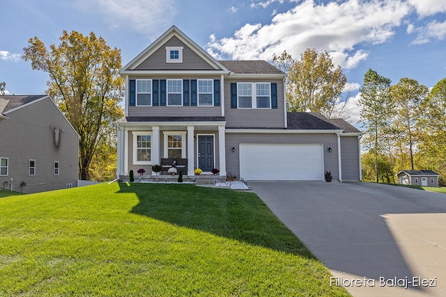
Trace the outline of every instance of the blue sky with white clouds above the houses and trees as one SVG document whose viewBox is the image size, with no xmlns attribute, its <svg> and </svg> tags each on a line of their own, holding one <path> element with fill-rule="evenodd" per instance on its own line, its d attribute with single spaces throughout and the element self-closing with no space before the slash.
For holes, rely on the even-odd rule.
<svg viewBox="0 0 446 297">
<path fill-rule="evenodd" d="M 397 83 L 446 77 L 446 0 L 0 0 L 0 82 L 9 94 L 45 93 L 48 76 L 22 60 L 29 38 L 59 45 L 62 31 L 93 31 L 123 65 L 171 25 L 218 59 L 327 50 L 344 70 L 357 118 L 369 68 Z"/>
</svg>

